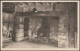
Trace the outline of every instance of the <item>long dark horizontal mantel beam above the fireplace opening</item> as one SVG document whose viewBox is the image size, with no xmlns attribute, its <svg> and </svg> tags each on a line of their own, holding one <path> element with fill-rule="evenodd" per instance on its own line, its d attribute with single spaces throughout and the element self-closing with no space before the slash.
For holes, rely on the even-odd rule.
<svg viewBox="0 0 80 51">
<path fill-rule="evenodd" d="M 57 11 L 57 12 L 53 12 L 53 11 L 38 11 L 38 12 L 16 12 L 16 16 L 22 16 L 22 17 L 26 17 L 26 16 L 51 16 L 51 17 L 58 17 L 60 15 L 65 15 L 66 13 L 63 11 Z"/>
</svg>

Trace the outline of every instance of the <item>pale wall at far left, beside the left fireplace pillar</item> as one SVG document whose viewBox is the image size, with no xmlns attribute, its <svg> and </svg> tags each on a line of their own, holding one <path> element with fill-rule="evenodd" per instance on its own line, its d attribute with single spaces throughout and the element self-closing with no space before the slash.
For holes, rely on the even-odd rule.
<svg viewBox="0 0 80 51">
<path fill-rule="evenodd" d="M 3 34 L 9 36 L 9 33 L 12 34 L 13 32 L 13 20 L 14 14 L 13 13 L 3 13 L 2 17 L 2 32 Z"/>
</svg>

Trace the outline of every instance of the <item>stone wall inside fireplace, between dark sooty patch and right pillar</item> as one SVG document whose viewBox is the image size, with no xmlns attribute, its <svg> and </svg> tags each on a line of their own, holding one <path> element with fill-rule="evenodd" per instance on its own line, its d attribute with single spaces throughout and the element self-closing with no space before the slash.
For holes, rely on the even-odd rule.
<svg viewBox="0 0 80 51">
<path fill-rule="evenodd" d="M 58 41 L 59 32 L 59 17 L 51 17 L 49 19 L 50 23 L 50 39 Z"/>
</svg>

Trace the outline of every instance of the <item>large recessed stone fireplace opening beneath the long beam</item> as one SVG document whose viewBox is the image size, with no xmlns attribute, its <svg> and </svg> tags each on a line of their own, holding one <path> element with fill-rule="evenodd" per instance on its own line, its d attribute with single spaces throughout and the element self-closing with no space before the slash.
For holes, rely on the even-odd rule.
<svg viewBox="0 0 80 51">
<path fill-rule="evenodd" d="M 58 16 L 24 16 L 24 38 L 37 38 L 43 43 L 58 44 L 59 17 Z M 58 46 L 58 45 L 57 45 Z"/>
</svg>

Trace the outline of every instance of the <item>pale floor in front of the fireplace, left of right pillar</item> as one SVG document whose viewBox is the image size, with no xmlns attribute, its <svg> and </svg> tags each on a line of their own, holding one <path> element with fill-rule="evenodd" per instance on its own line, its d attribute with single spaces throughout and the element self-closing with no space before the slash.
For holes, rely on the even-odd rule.
<svg viewBox="0 0 80 51">
<path fill-rule="evenodd" d="M 32 40 L 25 38 L 20 42 L 13 42 L 11 38 L 3 41 L 3 48 L 57 48 L 57 46 L 57 41 L 55 40 L 45 43 L 42 40 L 37 40 L 37 38 L 33 38 Z"/>
</svg>

